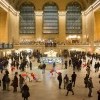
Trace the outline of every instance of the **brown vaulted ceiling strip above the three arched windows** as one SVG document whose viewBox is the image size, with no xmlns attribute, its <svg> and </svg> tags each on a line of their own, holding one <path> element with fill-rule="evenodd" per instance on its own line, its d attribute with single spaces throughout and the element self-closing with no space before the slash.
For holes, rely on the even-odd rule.
<svg viewBox="0 0 100 100">
<path fill-rule="evenodd" d="M 19 6 L 23 3 L 23 2 L 32 2 L 33 4 L 37 4 L 38 3 L 43 3 L 43 2 L 58 2 L 58 3 L 70 3 L 70 2 L 79 2 L 83 8 L 83 10 L 85 10 L 86 8 L 88 8 L 93 2 L 95 2 L 96 0 L 6 0 L 8 3 L 10 3 L 15 9 L 19 9 Z"/>
</svg>

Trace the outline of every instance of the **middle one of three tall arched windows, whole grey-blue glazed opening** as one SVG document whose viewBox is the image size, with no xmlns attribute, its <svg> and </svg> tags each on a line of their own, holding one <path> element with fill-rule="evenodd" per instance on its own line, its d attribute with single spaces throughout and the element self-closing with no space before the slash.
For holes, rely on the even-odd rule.
<svg viewBox="0 0 100 100">
<path fill-rule="evenodd" d="M 43 11 L 43 33 L 58 33 L 58 7 L 56 4 L 46 4 Z"/>
</svg>

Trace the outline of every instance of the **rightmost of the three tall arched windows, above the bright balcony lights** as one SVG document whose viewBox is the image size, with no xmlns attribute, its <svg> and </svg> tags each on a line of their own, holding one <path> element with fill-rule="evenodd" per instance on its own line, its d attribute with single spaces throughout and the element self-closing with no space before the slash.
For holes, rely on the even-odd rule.
<svg viewBox="0 0 100 100">
<path fill-rule="evenodd" d="M 82 18 L 81 6 L 77 2 L 70 3 L 67 6 L 66 13 L 66 33 L 81 34 Z"/>
</svg>

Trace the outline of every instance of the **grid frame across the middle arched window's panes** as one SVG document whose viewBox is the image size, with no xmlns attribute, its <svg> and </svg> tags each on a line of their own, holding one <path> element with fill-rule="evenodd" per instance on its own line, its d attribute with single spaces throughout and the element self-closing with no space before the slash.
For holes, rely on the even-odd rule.
<svg viewBox="0 0 100 100">
<path fill-rule="evenodd" d="M 50 7 L 50 6 L 56 8 L 56 10 L 51 11 L 49 9 L 49 11 L 47 11 L 48 7 Z M 45 7 L 47 8 L 46 11 L 45 11 Z M 53 20 L 51 18 L 51 16 L 53 16 L 53 15 L 51 15 L 51 13 L 56 16 L 56 18 L 53 18 Z M 46 16 L 44 16 L 44 15 L 46 15 Z M 47 17 L 47 15 L 49 17 Z M 43 34 L 59 34 L 59 14 L 58 14 L 58 8 L 57 8 L 56 5 L 49 5 L 48 4 L 48 5 L 44 6 L 44 9 L 43 9 L 43 18 L 42 19 L 43 19 L 42 20 L 43 21 L 43 23 L 42 23 L 42 28 L 43 28 L 42 33 Z M 55 25 L 53 26 L 54 21 L 57 24 L 56 26 Z M 46 25 L 46 24 L 51 24 L 51 25 Z M 45 29 L 46 26 L 47 26 L 47 29 Z M 57 29 L 53 29 L 54 27 L 57 28 Z M 50 28 L 52 28 L 52 29 L 50 29 Z"/>
</svg>

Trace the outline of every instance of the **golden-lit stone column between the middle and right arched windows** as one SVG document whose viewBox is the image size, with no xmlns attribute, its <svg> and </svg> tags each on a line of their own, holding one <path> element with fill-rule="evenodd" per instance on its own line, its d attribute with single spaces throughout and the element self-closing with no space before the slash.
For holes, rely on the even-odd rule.
<svg viewBox="0 0 100 100">
<path fill-rule="evenodd" d="M 59 11 L 59 41 L 66 40 L 66 12 Z"/>
</svg>

